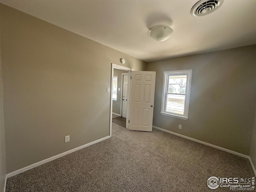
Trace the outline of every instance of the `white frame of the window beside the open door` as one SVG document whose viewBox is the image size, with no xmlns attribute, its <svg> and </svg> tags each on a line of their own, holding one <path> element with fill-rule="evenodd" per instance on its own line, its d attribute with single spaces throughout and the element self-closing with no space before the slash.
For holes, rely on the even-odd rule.
<svg viewBox="0 0 256 192">
<path fill-rule="evenodd" d="M 186 92 L 185 92 L 185 101 L 184 101 L 184 114 L 177 114 L 166 111 L 166 103 L 168 96 L 168 77 L 174 75 L 186 75 Z M 191 79 L 192 79 L 192 69 L 190 70 L 176 70 L 176 71 L 164 71 L 164 81 L 163 81 L 163 92 L 162 92 L 162 106 L 161 106 L 161 114 L 165 116 L 170 116 L 174 118 L 180 118 L 183 120 L 188 119 L 188 109 L 189 109 L 189 101 L 190 101 L 190 90 L 191 90 Z"/>
</svg>

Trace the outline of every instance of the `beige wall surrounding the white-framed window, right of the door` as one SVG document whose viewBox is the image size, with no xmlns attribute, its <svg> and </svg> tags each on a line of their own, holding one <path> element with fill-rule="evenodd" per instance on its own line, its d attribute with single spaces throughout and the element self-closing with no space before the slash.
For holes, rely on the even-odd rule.
<svg viewBox="0 0 256 192">
<path fill-rule="evenodd" d="M 256 107 L 255 53 L 253 45 L 147 63 L 146 70 L 156 71 L 153 125 L 249 155 Z M 188 120 L 163 116 L 163 73 L 185 69 L 193 70 Z"/>
</svg>

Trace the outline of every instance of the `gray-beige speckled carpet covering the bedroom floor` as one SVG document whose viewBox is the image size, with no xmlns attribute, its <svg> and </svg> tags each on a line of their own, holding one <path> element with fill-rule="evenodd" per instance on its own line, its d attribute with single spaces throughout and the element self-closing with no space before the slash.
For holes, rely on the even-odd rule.
<svg viewBox="0 0 256 192">
<path fill-rule="evenodd" d="M 248 159 L 153 129 L 112 138 L 8 178 L 6 192 L 217 192 L 210 176 L 254 176 Z"/>
</svg>

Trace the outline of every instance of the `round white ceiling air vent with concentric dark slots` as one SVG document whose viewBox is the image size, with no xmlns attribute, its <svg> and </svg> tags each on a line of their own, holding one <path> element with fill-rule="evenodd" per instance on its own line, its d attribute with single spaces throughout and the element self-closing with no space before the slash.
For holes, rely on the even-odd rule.
<svg viewBox="0 0 256 192">
<path fill-rule="evenodd" d="M 191 14 L 194 17 L 204 16 L 218 9 L 224 0 L 201 0 L 198 1 L 191 9 Z"/>
</svg>

